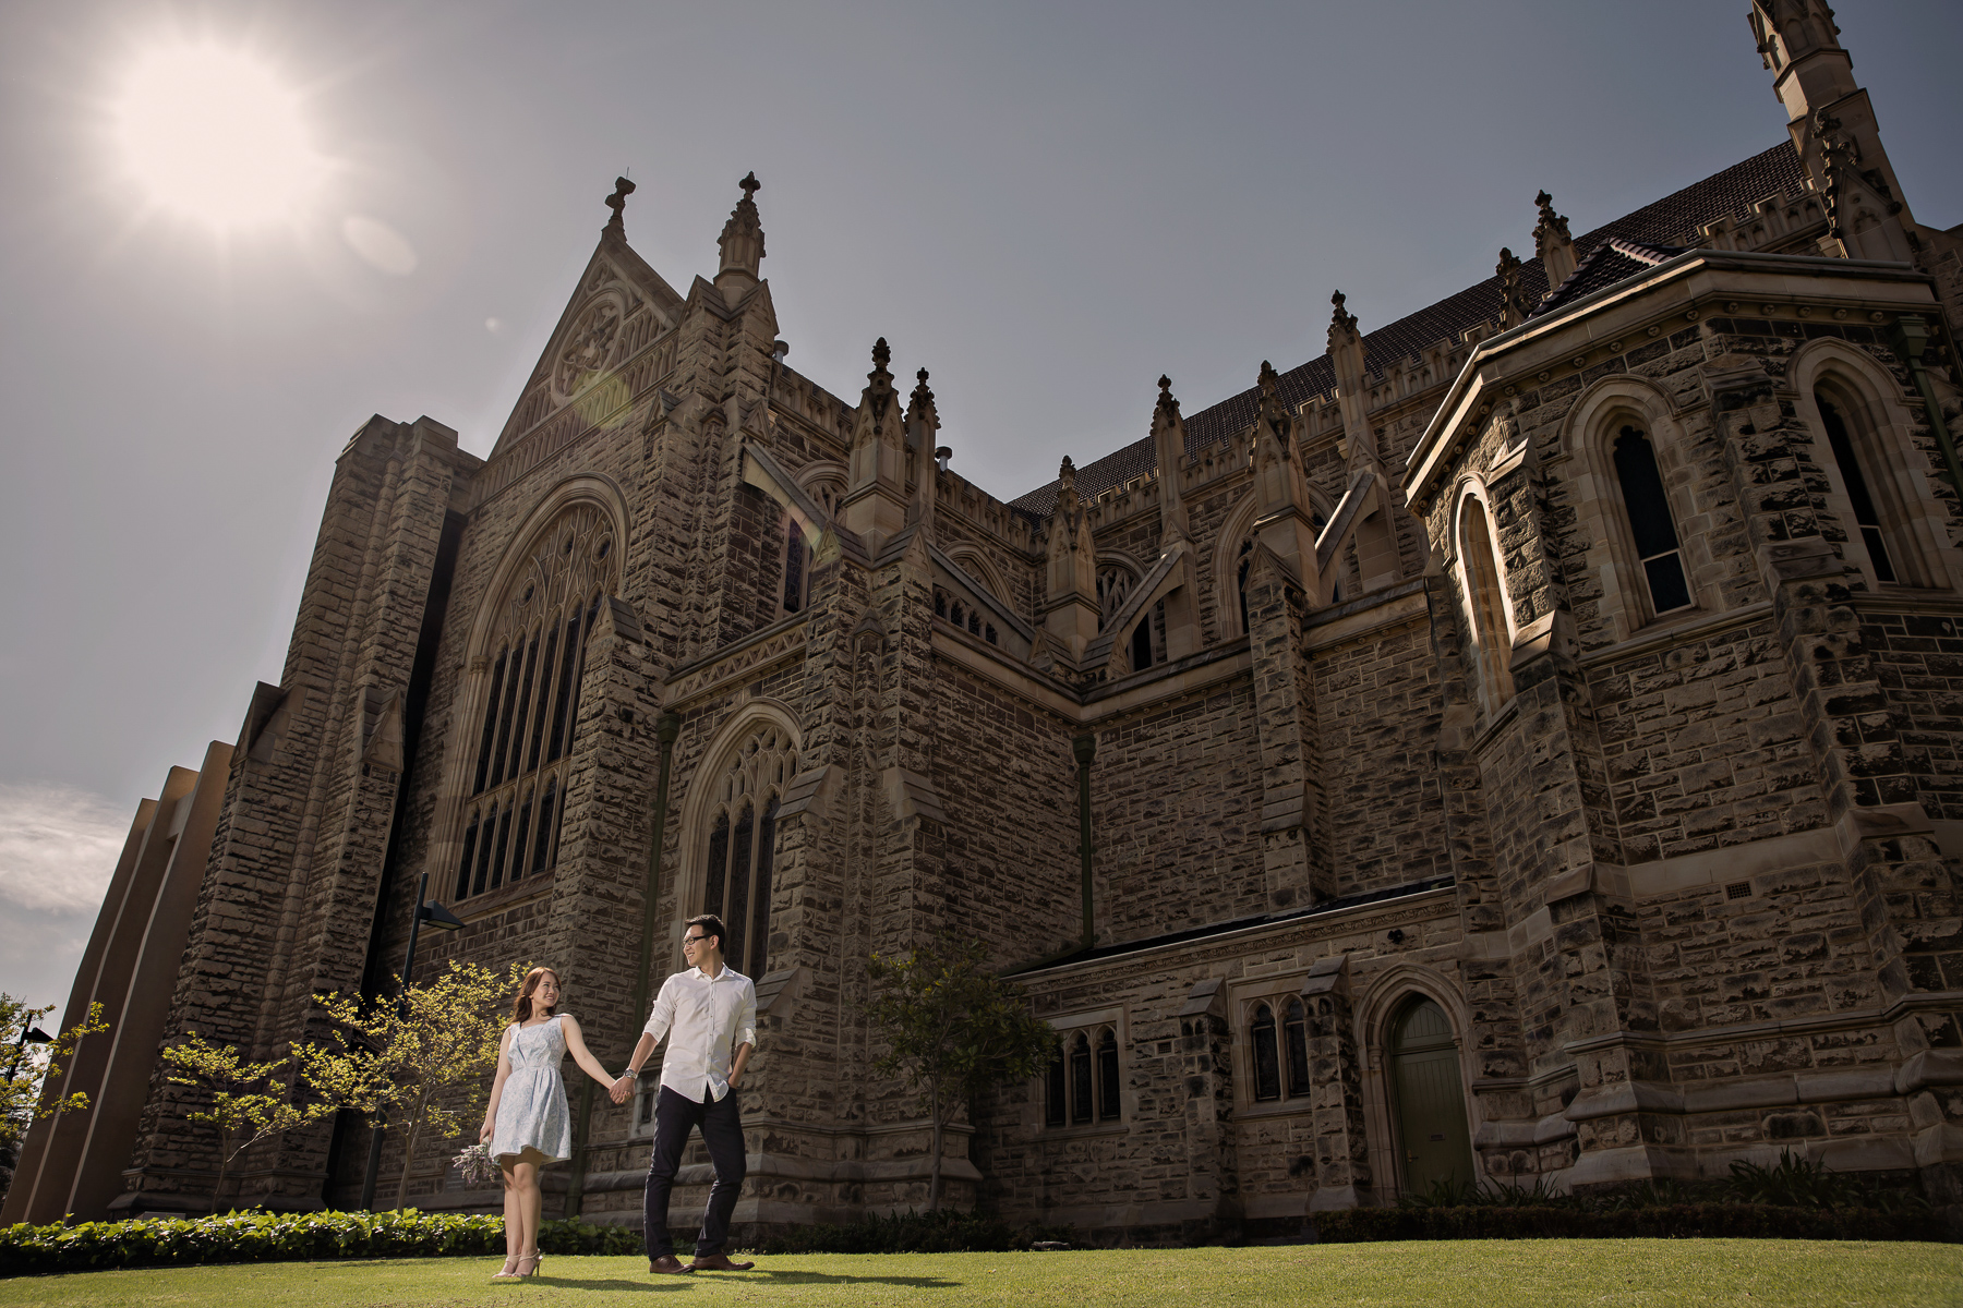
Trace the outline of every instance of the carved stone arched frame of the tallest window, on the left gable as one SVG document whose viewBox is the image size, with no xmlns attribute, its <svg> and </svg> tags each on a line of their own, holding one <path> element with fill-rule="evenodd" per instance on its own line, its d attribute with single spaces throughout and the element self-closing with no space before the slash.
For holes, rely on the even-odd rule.
<svg viewBox="0 0 1963 1308">
<path fill-rule="evenodd" d="M 571 557 L 561 549 L 567 531 L 577 537 Z M 432 896 L 469 900 L 557 867 L 587 633 L 599 606 L 618 586 L 626 549 L 624 496 L 612 480 L 593 475 L 554 486 L 512 533 L 465 641 L 465 675 L 451 720 L 467 726 L 450 731 L 446 741 L 446 780 L 434 818 L 440 835 L 430 843 L 426 865 Z M 567 657 L 563 633 L 575 598 L 577 639 Z M 548 643 L 554 645 L 550 684 L 544 669 Z M 530 694 L 524 694 L 526 663 L 532 663 Z M 561 671 L 569 677 L 563 690 Z M 524 698 L 522 708 L 518 698 Z M 561 722 L 557 753 L 550 749 L 554 722 Z M 546 794 L 552 796 L 552 812 L 542 820 Z M 516 847 L 520 826 L 530 849 Z M 540 839 L 544 865 L 532 857 Z"/>
</svg>

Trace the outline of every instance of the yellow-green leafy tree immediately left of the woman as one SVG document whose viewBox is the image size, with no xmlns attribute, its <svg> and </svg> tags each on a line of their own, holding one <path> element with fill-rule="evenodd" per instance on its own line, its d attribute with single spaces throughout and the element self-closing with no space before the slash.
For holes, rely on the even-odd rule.
<svg viewBox="0 0 1963 1308">
<path fill-rule="evenodd" d="M 340 992 L 316 996 L 336 1024 L 334 1045 L 294 1043 L 300 1077 L 336 1108 L 404 1133 L 397 1208 L 408 1198 L 422 1133 L 455 1139 L 481 1114 L 504 1033 L 497 1002 L 518 988 L 524 971 L 516 963 L 499 977 L 451 961 L 436 981 L 400 986 L 395 1002 L 363 1006 Z"/>
</svg>

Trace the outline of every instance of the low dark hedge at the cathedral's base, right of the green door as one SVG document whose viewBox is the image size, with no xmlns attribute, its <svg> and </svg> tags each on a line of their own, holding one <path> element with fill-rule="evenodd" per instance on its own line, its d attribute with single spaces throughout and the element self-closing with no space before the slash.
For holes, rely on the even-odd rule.
<svg viewBox="0 0 1963 1308">
<path fill-rule="evenodd" d="M 1669 1204 L 1588 1212 L 1580 1208 L 1351 1208 L 1317 1212 L 1315 1237 L 1364 1239 L 1953 1239 L 1939 1212 L 1782 1208 L 1775 1204 Z"/>
</svg>

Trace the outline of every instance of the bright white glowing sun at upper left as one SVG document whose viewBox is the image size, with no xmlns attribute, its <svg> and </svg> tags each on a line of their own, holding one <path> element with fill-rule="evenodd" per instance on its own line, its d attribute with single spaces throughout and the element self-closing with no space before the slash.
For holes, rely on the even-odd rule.
<svg viewBox="0 0 1963 1308">
<path fill-rule="evenodd" d="M 294 218 L 326 175 L 300 94 L 241 51 L 145 51 L 124 78 L 114 122 L 124 163 L 149 198 L 218 231 Z"/>
</svg>

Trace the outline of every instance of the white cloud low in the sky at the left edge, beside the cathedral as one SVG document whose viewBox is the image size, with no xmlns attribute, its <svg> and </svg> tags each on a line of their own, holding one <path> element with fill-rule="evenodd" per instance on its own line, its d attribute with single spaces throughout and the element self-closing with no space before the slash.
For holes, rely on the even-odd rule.
<svg viewBox="0 0 1963 1308">
<path fill-rule="evenodd" d="M 0 902 L 94 912 L 128 835 L 130 812 L 100 794 L 0 782 Z"/>
</svg>

